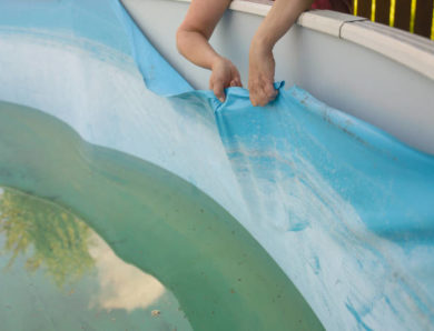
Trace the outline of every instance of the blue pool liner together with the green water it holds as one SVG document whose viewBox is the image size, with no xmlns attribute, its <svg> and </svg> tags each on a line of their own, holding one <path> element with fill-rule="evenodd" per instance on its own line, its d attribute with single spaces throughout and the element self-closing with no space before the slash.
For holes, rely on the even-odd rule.
<svg viewBox="0 0 434 331">
<path fill-rule="evenodd" d="M 194 90 L 115 0 L 0 0 L 7 330 L 432 329 L 433 157 L 276 89 Z"/>
</svg>

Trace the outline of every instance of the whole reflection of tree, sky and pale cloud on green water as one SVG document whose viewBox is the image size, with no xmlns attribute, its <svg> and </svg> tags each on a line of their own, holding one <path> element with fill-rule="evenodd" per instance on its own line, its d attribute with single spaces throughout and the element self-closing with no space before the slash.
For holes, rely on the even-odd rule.
<svg viewBox="0 0 434 331">
<path fill-rule="evenodd" d="M 85 222 L 53 203 L 9 188 L 0 188 L 0 267 L 3 287 L 13 287 L 17 274 L 27 281 L 20 282 L 14 297 L 29 298 L 29 288 L 38 288 L 51 292 L 62 305 L 73 309 L 70 299 L 77 292 L 87 301 L 83 309 L 96 312 L 85 323 L 72 320 L 62 324 L 62 330 L 97 327 L 105 319 L 118 320 L 132 330 L 155 330 L 158 324 L 162 330 L 174 330 L 170 327 L 191 329 L 175 297 L 166 292 L 156 278 L 118 258 Z M 83 287 L 88 291 L 83 292 Z M 0 305 L 16 311 L 20 311 L 26 301 L 14 305 L 10 298 L 0 298 Z M 51 317 L 56 319 L 60 314 L 56 313 L 52 300 L 51 297 L 43 305 L 53 311 Z M 114 318 L 116 310 L 117 318 Z M 160 314 L 156 317 L 152 311 Z M 141 314 L 141 321 L 134 318 L 134 312 Z M 20 315 L 26 319 L 23 312 Z M 145 322 L 150 319 L 158 319 L 159 323 L 147 325 Z M 4 321 L 3 317 L 1 320 Z M 6 324 L 12 325 L 10 317 L 8 320 Z"/>
</svg>

